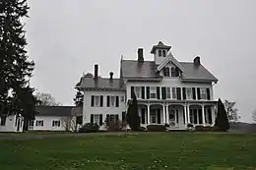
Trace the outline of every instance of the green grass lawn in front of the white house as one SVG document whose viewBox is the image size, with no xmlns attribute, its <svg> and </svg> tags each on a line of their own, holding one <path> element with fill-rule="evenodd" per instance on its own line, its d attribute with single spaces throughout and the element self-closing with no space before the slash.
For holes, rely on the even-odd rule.
<svg viewBox="0 0 256 170">
<path fill-rule="evenodd" d="M 256 136 L 139 134 L 0 141 L 1 170 L 255 169 Z"/>
</svg>

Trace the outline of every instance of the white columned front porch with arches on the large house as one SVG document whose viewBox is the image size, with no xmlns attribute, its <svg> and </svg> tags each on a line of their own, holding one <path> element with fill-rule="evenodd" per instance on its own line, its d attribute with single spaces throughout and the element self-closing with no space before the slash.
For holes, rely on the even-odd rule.
<svg viewBox="0 0 256 170">
<path fill-rule="evenodd" d="M 138 103 L 141 126 L 169 125 L 185 130 L 187 124 L 214 126 L 216 103 Z"/>
</svg>

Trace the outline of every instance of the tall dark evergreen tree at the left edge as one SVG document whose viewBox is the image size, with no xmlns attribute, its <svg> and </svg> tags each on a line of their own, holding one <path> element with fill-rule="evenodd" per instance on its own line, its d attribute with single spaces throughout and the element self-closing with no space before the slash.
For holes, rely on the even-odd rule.
<svg viewBox="0 0 256 170">
<path fill-rule="evenodd" d="M 26 0 L 0 1 L 0 111 L 34 118 L 36 99 L 30 78 L 34 69 L 26 51 L 27 40 L 21 20 L 28 17 Z"/>
</svg>

